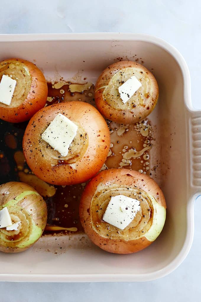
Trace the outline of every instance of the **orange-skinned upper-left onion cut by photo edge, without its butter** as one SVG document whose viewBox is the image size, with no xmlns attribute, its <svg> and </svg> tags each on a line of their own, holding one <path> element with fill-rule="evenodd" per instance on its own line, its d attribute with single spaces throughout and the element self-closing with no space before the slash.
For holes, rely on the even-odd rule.
<svg viewBox="0 0 201 302">
<path fill-rule="evenodd" d="M 17 84 L 10 106 L 0 103 L 0 118 L 11 123 L 29 120 L 46 104 L 48 88 L 43 73 L 29 61 L 7 59 L 0 63 L 0 80 L 3 74 Z"/>
</svg>

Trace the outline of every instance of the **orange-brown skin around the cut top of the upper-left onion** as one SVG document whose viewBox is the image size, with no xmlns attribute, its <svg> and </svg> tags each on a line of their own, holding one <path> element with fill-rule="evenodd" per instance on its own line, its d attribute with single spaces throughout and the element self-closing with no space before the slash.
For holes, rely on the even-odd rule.
<svg viewBox="0 0 201 302">
<path fill-rule="evenodd" d="M 10 107 L 0 103 L 0 118 L 11 123 L 20 123 L 30 120 L 39 109 L 45 106 L 48 95 L 47 82 L 42 71 L 33 63 L 23 59 L 11 58 L 2 61 L 0 67 L 1 64 L 7 61 L 17 61 L 17 63 L 22 64 L 22 67 L 25 65 L 30 72 L 30 91 L 21 104 L 17 107 Z"/>
</svg>

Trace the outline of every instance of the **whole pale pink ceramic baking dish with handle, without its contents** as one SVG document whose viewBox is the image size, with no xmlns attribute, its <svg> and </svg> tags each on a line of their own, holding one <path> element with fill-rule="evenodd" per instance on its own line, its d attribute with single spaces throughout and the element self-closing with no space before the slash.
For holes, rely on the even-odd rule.
<svg viewBox="0 0 201 302">
<path fill-rule="evenodd" d="M 0 47 L 1 60 L 28 59 L 47 79 L 76 76 L 96 82 L 119 58 L 144 61 L 159 83 L 159 102 L 150 115 L 156 133 L 151 164 L 167 201 L 161 235 L 141 252 L 110 254 L 83 234 L 42 237 L 23 253 L 1 253 L 0 281 L 148 281 L 173 271 L 192 244 L 194 201 L 201 192 L 201 111 L 192 106 L 181 54 L 145 34 L 0 35 Z"/>
</svg>

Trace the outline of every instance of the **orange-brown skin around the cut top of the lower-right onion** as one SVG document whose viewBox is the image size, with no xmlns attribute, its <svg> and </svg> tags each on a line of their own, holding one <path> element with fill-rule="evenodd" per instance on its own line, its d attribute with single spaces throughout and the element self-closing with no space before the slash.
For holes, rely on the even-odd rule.
<svg viewBox="0 0 201 302">
<path fill-rule="evenodd" d="M 148 175 L 137 171 L 130 171 L 127 169 L 108 169 L 100 172 L 88 183 L 88 185 L 86 185 L 80 200 L 81 224 L 85 233 L 93 243 L 101 249 L 111 253 L 129 254 L 138 252 L 149 246 L 152 241 L 146 239 L 145 236 L 136 240 L 124 240 L 118 238 L 110 239 L 102 237 L 101 233 L 97 233 L 93 229 L 90 213 L 91 201 L 100 183 L 103 185 L 103 188 L 104 185 L 112 183 L 126 186 L 137 186 L 137 188 L 152 195 L 162 207 L 166 208 L 165 198 L 159 186 Z"/>
</svg>

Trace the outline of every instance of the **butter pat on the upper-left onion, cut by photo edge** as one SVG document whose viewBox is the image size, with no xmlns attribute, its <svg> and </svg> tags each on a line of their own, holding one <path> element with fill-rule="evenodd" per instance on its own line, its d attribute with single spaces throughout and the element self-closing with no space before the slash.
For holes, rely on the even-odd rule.
<svg viewBox="0 0 201 302">
<path fill-rule="evenodd" d="M 17 81 L 9 76 L 2 76 L 0 82 L 0 102 L 10 106 Z"/>
</svg>

